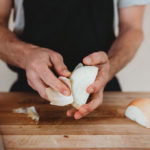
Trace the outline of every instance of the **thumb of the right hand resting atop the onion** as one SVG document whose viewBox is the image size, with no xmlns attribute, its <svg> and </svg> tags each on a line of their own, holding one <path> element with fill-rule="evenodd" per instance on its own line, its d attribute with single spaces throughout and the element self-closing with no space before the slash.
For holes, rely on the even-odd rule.
<svg viewBox="0 0 150 150">
<path fill-rule="evenodd" d="M 105 52 L 94 52 L 83 59 L 85 65 L 104 64 L 108 61 L 108 56 Z"/>
</svg>

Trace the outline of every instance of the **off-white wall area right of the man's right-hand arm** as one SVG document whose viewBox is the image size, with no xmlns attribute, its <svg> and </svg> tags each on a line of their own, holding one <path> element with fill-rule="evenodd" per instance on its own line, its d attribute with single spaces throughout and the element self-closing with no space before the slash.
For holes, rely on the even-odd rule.
<svg viewBox="0 0 150 150">
<path fill-rule="evenodd" d="M 133 59 L 118 77 L 124 91 L 150 91 L 150 6 L 144 18 L 145 39 Z"/>
</svg>

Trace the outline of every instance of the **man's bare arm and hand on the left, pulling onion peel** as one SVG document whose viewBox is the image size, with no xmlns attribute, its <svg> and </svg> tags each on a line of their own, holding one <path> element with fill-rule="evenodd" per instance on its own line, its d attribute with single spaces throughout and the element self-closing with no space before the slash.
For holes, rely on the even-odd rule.
<svg viewBox="0 0 150 150">
<path fill-rule="evenodd" d="M 0 59 L 24 69 L 29 85 L 44 99 L 47 99 L 46 87 L 69 95 L 69 88 L 52 72 L 52 69 L 54 69 L 58 75 L 65 77 L 70 75 L 63 63 L 62 56 L 52 50 L 20 41 L 8 29 L 8 20 L 12 8 L 13 0 L 0 0 Z"/>
</svg>

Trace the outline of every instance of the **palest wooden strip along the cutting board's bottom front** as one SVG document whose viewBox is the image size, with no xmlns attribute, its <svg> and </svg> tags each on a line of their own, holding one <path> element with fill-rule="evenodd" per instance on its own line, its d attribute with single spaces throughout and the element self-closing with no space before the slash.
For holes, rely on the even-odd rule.
<svg viewBox="0 0 150 150">
<path fill-rule="evenodd" d="M 150 148 L 150 135 L 5 135 L 4 141 L 8 148 Z"/>
</svg>

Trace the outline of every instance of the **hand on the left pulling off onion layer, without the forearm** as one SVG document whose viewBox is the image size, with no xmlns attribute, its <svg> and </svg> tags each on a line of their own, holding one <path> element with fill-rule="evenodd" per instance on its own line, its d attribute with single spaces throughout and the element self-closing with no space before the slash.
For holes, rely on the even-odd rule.
<svg viewBox="0 0 150 150">
<path fill-rule="evenodd" d="M 70 76 L 62 56 L 46 48 L 37 46 L 31 48 L 32 51 L 28 54 L 25 65 L 28 84 L 44 99 L 47 99 L 46 87 L 51 87 L 63 95 L 70 95 L 69 88 L 52 71 L 55 70 L 59 76 Z"/>
</svg>

